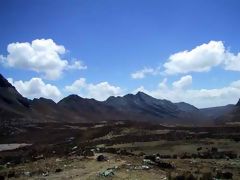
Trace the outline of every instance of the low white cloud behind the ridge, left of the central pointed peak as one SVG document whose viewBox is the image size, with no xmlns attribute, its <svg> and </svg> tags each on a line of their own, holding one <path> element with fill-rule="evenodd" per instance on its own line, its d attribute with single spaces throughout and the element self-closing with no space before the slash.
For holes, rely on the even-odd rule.
<svg viewBox="0 0 240 180">
<path fill-rule="evenodd" d="M 120 87 L 113 86 L 108 82 L 92 84 L 87 83 L 85 78 L 74 81 L 72 85 L 66 86 L 65 90 L 70 93 L 79 94 L 82 97 L 95 98 L 97 100 L 105 100 L 109 96 L 118 96 L 123 93 Z"/>
</svg>

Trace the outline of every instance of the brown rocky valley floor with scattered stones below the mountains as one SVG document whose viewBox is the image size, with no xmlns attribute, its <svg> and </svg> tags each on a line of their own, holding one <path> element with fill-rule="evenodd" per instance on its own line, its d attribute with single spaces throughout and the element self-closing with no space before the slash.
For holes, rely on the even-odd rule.
<svg viewBox="0 0 240 180">
<path fill-rule="evenodd" d="M 0 180 L 239 179 L 239 128 L 131 122 L 9 128 L 2 147 L 17 149 L 1 149 Z"/>
</svg>

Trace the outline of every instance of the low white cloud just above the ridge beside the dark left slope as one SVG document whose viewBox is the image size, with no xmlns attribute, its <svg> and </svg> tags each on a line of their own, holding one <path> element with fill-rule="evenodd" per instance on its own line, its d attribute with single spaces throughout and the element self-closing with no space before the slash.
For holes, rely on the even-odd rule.
<svg viewBox="0 0 240 180">
<path fill-rule="evenodd" d="M 58 101 L 62 96 L 56 86 L 44 83 L 41 78 L 32 78 L 29 81 L 14 81 L 8 78 L 8 81 L 20 94 L 30 99 L 44 97 Z"/>
</svg>

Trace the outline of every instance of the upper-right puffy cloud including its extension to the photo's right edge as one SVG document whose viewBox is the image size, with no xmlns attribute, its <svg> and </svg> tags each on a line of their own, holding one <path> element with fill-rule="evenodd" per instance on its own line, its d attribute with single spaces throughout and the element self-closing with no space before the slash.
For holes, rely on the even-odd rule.
<svg viewBox="0 0 240 180">
<path fill-rule="evenodd" d="M 167 74 L 206 72 L 222 65 L 225 70 L 240 71 L 240 53 L 229 52 L 222 41 L 210 41 L 188 51 L 172 54 L 163 65 Z"/>
</svg>

